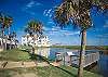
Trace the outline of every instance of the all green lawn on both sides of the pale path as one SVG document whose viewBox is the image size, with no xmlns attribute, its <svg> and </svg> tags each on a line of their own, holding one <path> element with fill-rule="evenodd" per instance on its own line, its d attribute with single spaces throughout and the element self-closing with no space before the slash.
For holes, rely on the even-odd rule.
<svg viewBox="0 0 108 77">
<path fill-rule="evenodd" d="M 46 61 L 45 57 L 40 55 L 30 56 L 28 52 L 21 51 L 19 49 L 12 49 L 0 52 L 0 61 L 32 61 L 41 59 Z M 77 77 L 77 68 L 70 66 L 48 66 L 48 67 L 29 67 L 29 68 L 11 68 L 0 69 L 1 77 L 13 77 L 21 74 L 36 74 L 38 77 Z M 84 77 L 102 77 L 100 75 L 84 70 Z"/>
</svg>

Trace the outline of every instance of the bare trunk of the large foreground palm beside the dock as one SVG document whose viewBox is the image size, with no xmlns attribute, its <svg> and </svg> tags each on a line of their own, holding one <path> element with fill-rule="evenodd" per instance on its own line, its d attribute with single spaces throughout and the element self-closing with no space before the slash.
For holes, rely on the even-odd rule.
<svg viewBox="0 0 108 77">
<path fill-rule="evenodd" d="M 83 77 L 85 46 L 86 46 L 86 30 L 84 29 L 82 30 L 82 36 L 81 36 L 81 50 L 80 50 L 80 59 L 79 59 L 78 77 Z"/>
</svg>

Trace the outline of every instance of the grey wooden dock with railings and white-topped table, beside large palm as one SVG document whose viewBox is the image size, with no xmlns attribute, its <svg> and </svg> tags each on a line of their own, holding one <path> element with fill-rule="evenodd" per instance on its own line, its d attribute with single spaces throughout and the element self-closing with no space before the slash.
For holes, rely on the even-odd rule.
<svg viewBox="0 0 108 77">
<path fill-rule="evenodd" d="M 62 65 L 77 65 L 79 66 L 79 55 L 73 54 L 72 52 L 57 52 L 55 53 L 55 61 L 60 61 Z M 91 52 L 84 56 L 83 67 L 86 67 L 99 60 L 99 52 Z"/>
</svg>

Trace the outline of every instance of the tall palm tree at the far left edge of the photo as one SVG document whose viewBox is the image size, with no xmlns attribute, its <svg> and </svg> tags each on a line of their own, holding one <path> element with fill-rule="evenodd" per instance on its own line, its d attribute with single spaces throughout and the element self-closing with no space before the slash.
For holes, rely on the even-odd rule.
<svg viewBox="0 0 108 77">
<path fill-rule="evenodd" d="M 0 23 L 1 23 L 1 28 L 2 28 L 2 48 L 4 49 L 4 42 L 3 42 L 3 38 L 4 38 L 4 29 L 9 28 L 10 25 L 12 24 L 13 18 L 4 15 L 4 14 L 0 14 Z M 6 40 L 6 38 L 5 38 Z M 6 48 L 6 42 L 5 42 L 5 48 Z"/>
</svg>

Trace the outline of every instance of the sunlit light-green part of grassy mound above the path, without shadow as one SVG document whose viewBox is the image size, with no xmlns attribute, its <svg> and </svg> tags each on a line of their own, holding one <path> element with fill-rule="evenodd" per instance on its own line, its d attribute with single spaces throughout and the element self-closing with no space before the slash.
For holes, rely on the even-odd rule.
<svg viewBox="0 0 108 77">
<path fill-rule="evenodd" d="M 29 53 L 18 49 L 0 52 L 0 61 L 31 61 Z"/>
</svg>

